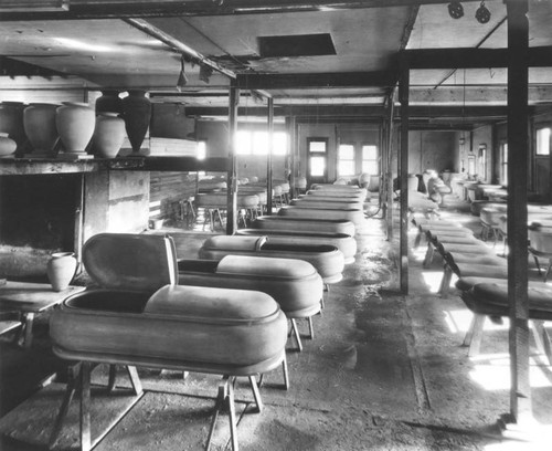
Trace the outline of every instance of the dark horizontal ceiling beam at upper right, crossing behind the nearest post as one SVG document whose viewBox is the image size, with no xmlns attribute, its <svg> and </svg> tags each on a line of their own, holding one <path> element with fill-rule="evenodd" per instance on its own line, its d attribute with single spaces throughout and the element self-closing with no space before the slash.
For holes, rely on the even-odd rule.
<svg viewBox="0 0 552 451">
<path fill-rule="evenodd" d="M 410 69 L 488 69 L 507 67 L 508 49 L 416 49 L 401 52 L 400 60 Z M 529 49 L 530 67 L 552 67 L 552 46 Z"/>
</svg>

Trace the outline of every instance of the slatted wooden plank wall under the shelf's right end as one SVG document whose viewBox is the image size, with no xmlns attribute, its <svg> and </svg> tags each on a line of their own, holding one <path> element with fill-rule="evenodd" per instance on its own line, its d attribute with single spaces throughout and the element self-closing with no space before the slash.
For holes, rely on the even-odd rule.
<svg viewBox="0 0 552 451">
<path fill-rule="evenodd" d="M 150 219 L 177 219 L 179 202 L 197 191 L 195 172 L 151 172 L 149 201 L 156 204 Z"/>
</svg>

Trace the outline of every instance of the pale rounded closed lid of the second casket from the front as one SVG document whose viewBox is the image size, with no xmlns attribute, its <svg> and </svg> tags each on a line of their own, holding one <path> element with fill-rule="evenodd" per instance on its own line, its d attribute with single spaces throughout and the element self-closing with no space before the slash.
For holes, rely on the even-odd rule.
<svg viewBox="0 0 552 451">
<path fill-rule="evenodd" d="M 316 269 L 304 260 L 225 255 L 216 266 L 216 274 L 304 279 L 316 274 Z"/>
</svg>

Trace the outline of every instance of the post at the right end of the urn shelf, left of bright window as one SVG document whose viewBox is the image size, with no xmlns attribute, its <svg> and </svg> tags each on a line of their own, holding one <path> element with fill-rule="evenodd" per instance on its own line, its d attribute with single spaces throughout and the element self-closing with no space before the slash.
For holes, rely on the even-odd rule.
<svg viewBox="0 0 552 451">
<path fill-rule="evenodd" d="M 237 230 L 237 161 L 236 161 L 236 132 L 237 132 L 237 104 L 240 103 L 240 88 L 230 87 L 229 105 L 229 177 L 226 201 L 226 234 L 234 234 Z"/>
</svg>

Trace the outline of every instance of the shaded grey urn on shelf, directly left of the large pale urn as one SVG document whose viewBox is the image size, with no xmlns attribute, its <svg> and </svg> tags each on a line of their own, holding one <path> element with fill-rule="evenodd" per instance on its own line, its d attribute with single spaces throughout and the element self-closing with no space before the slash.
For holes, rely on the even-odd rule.
<svg viewBox="0 0 552 451">
<path fill-rule="evenodd" d="M 55 111 L 59 105 L 30 104 L 23 111 L 23 126 L 33 147 L 32 156 L 52 157 L 60 138 L 55 125 Z"/>
</svg>

